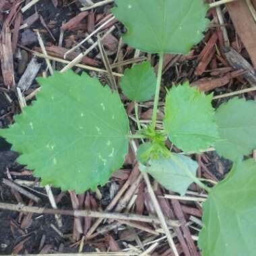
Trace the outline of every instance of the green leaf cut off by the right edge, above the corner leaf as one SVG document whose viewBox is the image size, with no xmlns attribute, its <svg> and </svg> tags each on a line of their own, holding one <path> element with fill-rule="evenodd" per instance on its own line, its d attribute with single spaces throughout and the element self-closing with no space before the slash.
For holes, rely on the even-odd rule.
<svg viewBox="0 0 256 256">
<path fill-rule="evenodd" d="M 220 140 L 215 148 L 230 160 L 242 158 L 256 149 L 256 102 L 232 98 L 216 110 Z"/>
</svg>

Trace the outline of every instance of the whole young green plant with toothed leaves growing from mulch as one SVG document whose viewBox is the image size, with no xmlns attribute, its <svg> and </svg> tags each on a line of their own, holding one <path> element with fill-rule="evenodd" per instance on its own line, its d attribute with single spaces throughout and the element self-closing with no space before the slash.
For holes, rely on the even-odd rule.
<svg viewBox="0 0 256 256">
<path fill-rule="evenodd" d="M 199 235 L 204 256 L 255 255 L 256 163 L 243 156 L 256 148 L 256 104 L 233 98 L 216 111 L 212 94 L 188 83 L 168 90 L 164 129 L 156 129 L 164 53 L 189 53 L 203 38 L 209 21 L 203 0 L 116 0 L 114 15 L 127 27 L 123 40 L 147 53 L 159 55 L 157 77 L 145 62 L 125 71 L 121 88 L 135 102 L 137 133 L 117 92 L 96 78 L 72 71 L 38 79 L 42 86 L 33 106 L 24 108 L 0 135 L 21 156 L 18 162 L 34 169 L 42 183 L 82 193 L 104 185 L 120 168 L 129 139 L 141 138 L 139 168 L 166 187 L 184 195 L 191 183 L 209 192 L 203 204 L 205 226 Z M 154 95 L 152 123 L 141 129 L 137 103 Z M 214 188 L 196 177 L 197 162 L 170 152 L 170 139 L 183 152 L 215 146 L 220 156 L 234 161 L 228 177 Z"/>
</svg>

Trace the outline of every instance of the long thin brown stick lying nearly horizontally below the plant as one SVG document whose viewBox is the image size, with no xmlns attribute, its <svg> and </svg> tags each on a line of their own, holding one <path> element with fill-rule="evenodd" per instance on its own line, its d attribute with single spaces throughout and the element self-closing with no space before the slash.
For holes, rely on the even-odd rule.
<svg viewBox="0 0 256 256">
<path fill-rule="evenodd" d="M 61 210 L 61 209 L 49 209 L 42 207 L 26 206 L 22 204 L 12 204 L 12 203 L 0 203 L 0 209 L 10 210 L 15 212 L 31 212 L 33 214 L 61 214 L 65 216 L 75 216 L 75 217 L 91 217 L 91 218 L 106 218 L 113 220 L 130 220 L 137 222 L 147 222 L 159 224 L 160 221 L 156 217 L 142 216 L 138 214 L 117 214 L 112 212 L 95 212 L 89 210 Z M 168 220 L 168 224 L 172 226 L 174 224 L 177 226 L 177 222 L 173 220 Z"/>
</svg>

